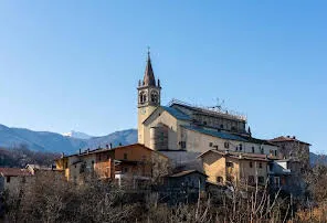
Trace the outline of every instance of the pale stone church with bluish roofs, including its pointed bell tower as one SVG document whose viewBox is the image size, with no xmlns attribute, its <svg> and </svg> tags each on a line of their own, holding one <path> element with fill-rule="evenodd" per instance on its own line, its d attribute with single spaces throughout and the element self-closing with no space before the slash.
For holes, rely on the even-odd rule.
<svg viewBox="0 0 327 223">
<path fill-rule="evenodd" d="M 199 107 L 171 100 L 161 105 L 160 81 L 156 79 L 148 53 L 138 87 L 138 142 L 167 153 L 229 150 L 276 158 L 278 147 L 252 137 L 245 116 L 221 108 Z M 169 156 L 170 157 L 170 156 Z"/>
</svg>

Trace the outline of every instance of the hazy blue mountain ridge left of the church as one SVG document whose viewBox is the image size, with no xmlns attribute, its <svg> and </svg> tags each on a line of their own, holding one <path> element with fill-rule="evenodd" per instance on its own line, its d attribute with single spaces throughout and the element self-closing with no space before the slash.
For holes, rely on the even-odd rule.
<svg viewBox="0 0 327 223">
<path fill-rule="evenodd" d="M 34 151 L 74 153 L 80 149 L 97 148 L 106 144 L 114 146 L 134 144 L 137 141 L 137 130 L 115 131 L 107 136 L 81 139 L 50 131 L 33 131 L 25 128 L 10 128 L 0 125 L 0 147 L 17 148 L 24 145 Z"/>
</svg>

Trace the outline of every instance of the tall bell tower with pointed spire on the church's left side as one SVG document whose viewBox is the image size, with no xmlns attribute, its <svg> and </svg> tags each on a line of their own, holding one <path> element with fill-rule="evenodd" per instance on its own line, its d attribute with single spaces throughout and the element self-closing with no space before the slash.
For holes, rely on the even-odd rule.
<svg viewBox="0 0 327 223">
<path fill-rule="evenodd" d="M 150 51 L 148 50 L 148 60 L 147 66 L 145 71 L 144 79 L 138 82 L 137 87 L 137 108 L 138 108 L 138 142 L 145 144 L 145 134 L 144 134 L 144 125 L 143 123 L 154 113 L 154 110 L 160 106 L 160 81 L 156 83 L 151 59 L 150 59 Z"/>
</svg>

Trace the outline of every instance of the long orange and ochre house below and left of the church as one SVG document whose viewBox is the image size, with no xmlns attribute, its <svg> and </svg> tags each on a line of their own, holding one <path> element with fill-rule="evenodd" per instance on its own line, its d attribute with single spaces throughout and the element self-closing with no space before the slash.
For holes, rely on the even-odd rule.
<svg viewBox="0 0 327 223">
<path fill-rule="evenodd" d="M 168 158 L 140 144 L 86 150 L 62 157 L 55 163 L 57 169 L 64 170 L 66 180 L 75 183 L 95 177 L 115 179 L 119 185 L 124 181 L 136 185 L 168 173 Z"/>
</svg>

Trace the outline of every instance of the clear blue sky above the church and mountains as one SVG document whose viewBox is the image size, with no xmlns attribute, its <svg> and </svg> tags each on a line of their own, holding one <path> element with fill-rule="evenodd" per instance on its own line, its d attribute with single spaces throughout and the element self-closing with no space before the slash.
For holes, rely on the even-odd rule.
<svg viewBox="0 0 327 223">
<path fill-rule="evenodd" d="M 326 1 L 0 1 L 0 123 L 135 128 L 151 47 L 162 102 L 249 117 L 260 138 L 327 152 Z"/>
</svg>

